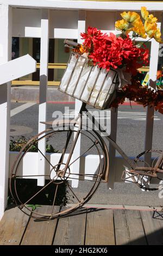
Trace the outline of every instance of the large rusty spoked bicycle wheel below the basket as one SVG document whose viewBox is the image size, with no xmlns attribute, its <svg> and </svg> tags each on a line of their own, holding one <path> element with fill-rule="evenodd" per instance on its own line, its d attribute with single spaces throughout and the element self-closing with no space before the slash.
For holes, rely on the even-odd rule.
<svg viewBox="0 0 163 256">
<path fill-rule="evenodd" d="M 57 130 L 48 129 L 30 139 L 17 155 L 10 174 L 10 191 L 18 208 L 25 214 L 43 220 L 70 215 L 96 192 L 109 166 L 108 150 L 96 131 L 80 131 L 80 153 L 76 159 L 72 156 L 65 177 L 61 177 L 76 132 L 70 130 L 69 126 L 67 130 L 60 130 L 59 127 Z M 68 141 L 70 133 L 71 138 Z M 46 139 L 53 146 L 55 154 L 44 155 L 40 151 L 38 143 L 42 139 Z M 37 157 L 34 157 L 36 152 L 32 153 L 31 150 L 40 152 L 45 160 L 46 173 L 38 175 Z M 61 156 L 64 157 L 61 159 Z M 79 160 L 78 173 L 74 170 L 74 165 Z M 22 170 L 22 166 L 26 166 L 25 170 Z M 45 179 L 43 186 L 37 186 L 40 176 Z M 49 211 L 43 212 L 41 205 L 50 205 Z M 56 210 L 55 205 L 60 208 Z M 66 206 L 66 209 L 62 206 Z"/>
</svg>

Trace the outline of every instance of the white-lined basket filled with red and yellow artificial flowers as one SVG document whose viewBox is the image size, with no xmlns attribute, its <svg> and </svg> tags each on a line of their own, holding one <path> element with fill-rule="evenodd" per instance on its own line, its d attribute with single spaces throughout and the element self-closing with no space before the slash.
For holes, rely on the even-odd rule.
<svg viewBox="0 0 163 256">
<path fill-rule="evenodd" d="M 95 27 L 88 27 L 86 33 L 80 34 L 84 42 L 71 54 L 59 87 L 62 92 L 100 109 L 116 107 L 125 97 L 135 100 L 128 87 L 134 85 L 135 92 L 136 84 L 140 90 L 137 69 L 149 63 L 146 42 L 136 39 L 147 36 L 148 40 L 162 42 L 162 39 L 156 17 L 145 7 L 141 8 L 141 17 L 131 11 L 124 11 L 121 16 L 123 19 L 115 23 L 118 35 L 102 33 Z M 116 94 L 118 88 L 122 88 L 121 96 Z"/>
</svg>

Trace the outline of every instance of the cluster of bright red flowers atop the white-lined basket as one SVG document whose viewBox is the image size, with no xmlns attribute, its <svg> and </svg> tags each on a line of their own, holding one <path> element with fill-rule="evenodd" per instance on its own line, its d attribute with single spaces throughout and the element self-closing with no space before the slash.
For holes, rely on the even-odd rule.
<svg viewBox="0 0 163 256">
<path fill-rule="evenodd" d="M 129 38 L 115 34 L 103 34 L 97 28 L 89 27 L 87 33 L 81 33 L 84 46 L 89 52 L 89 58 L 94 65 L 109 71 L 112 67 L 126 67 L 126 71 L 135 75 L 136 70 L 142 65 L 148 64 L 147 48 L 137 47 L 135 42 Z"/>
</svg>

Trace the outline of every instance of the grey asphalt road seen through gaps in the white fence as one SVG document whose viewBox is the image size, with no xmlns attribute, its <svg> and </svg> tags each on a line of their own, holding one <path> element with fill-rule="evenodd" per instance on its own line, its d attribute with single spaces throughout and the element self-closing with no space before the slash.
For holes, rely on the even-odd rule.
<svg viewBox="0 0 163 256">
<path fill-rule="evenodd" d="M 25 103 L 11 103 L 11 132 L 14 138 L 21 135 L 31 138 L 37 134 L 39 106 L 25 106 Z M 20 108 L 19 108 L 20 107 Z M 21 109 L 22 107 L 22 109 Z M 65 109 L 66 107 L 66 109 Z M 53 112 L 70 113 L 73 117 L 74 104 L 47 104 L 47 120 L 52 120 Z M 55 112 L 56 114 L 56 112 Z M 142 106 L 121 106 L 118 114 L 117 143 L 128 156 L 135 157 L 144 149 L 146 109 Z M 153 149 L 162 149 L 163 116 L 156 112 L 154 118 Z M 60 138 L 58 138 L 58 143 Z M 81 191 L 82 191 L 81 187 Z M 90 203 L 97 204 L 126 204 L 126 205 L 163 205 L 158 197 L 158 191 L 143 192 L 135 184 L 115 182 L 113 190 L 108 190 L 105 184 L 101 184 L 98 192 L 93 196 Z"/>
</svg>

